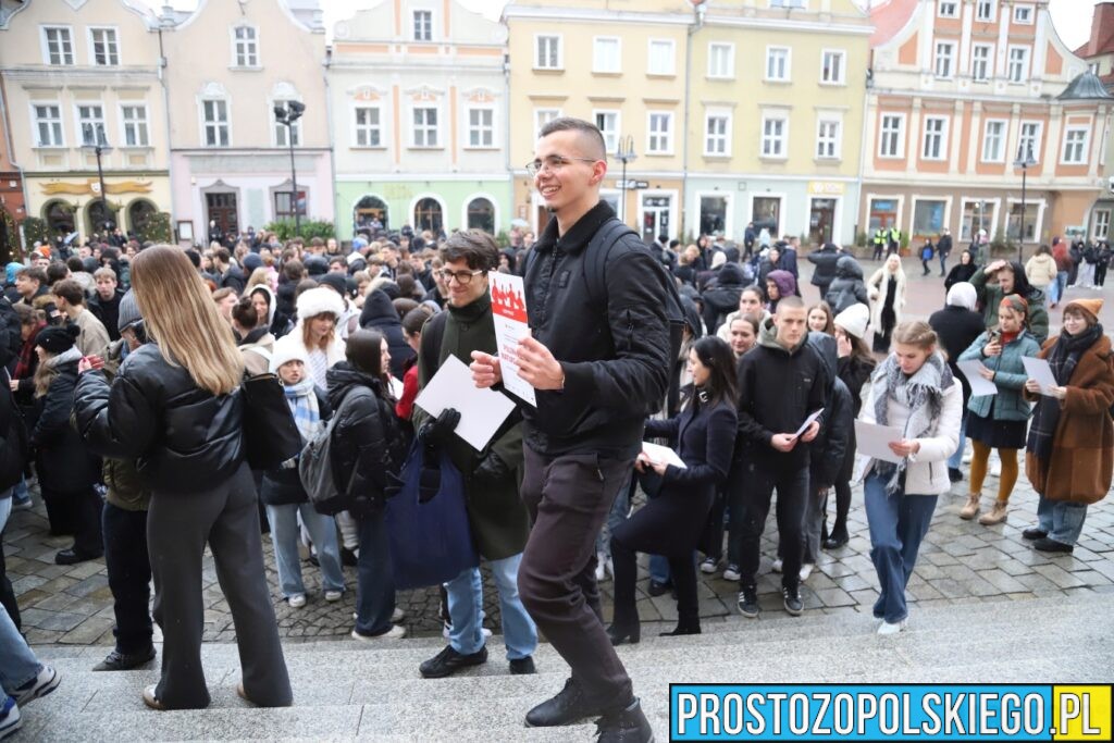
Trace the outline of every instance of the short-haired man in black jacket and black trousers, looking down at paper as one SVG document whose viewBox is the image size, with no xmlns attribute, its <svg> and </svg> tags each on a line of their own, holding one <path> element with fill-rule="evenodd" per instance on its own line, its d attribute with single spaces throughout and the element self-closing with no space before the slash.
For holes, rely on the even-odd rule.
<svg viewBox="0 0 1114 743">
<path fill-rule="evenodd" d="M 828 381 L 823 362 L 808 348 L 807 312 L 797 296 L 783 297 L 776 314 L 762 323 L 759 344 L 739 363 L 739 437 L 742 458 L 742 551 L 739 610 L 759 615 L 758 569 L 770 499 L 778 490 L 778 535 L 782 545 L 782 596 L 785 610 L 799 616 L 801 525 L 809 489 L 810 442 L 820 433 L 814 420 L 795 437 L 813 412 L 824 407 Z M 734 518 L 734 517 L 732 517 Z"/>
</svg>

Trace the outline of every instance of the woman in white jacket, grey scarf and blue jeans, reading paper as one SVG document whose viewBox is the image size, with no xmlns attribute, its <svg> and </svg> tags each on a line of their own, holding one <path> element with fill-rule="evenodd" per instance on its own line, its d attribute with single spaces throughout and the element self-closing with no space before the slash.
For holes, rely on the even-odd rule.
<svg viewBox="0 0 1114 743">
<path fill-rule="evenodd" d="M 902 431 L 890 442 L 897 463 L 872 459 L 863 483 L 870 558 L 880 595 L 874 617 L 880 635 L 906 627 L 906 585 L 941 492 L 951 489 L 946 460 L 959 446 L 962 390 L 951 375 L 937 338 L 924 322 L 893 331 L 893 353 L 871 375 L 860 419 Z"/>
</svg>

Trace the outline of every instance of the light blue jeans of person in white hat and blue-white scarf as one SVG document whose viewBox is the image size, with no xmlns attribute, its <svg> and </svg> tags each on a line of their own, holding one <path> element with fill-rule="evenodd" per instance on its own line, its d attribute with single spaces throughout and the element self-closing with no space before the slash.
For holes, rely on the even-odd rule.
<svg viewBox="0 0 1114 743">
<path fill-rule="evenodd" d="M 304 595 L 302 564 L 297 555 L 297 515 L 302 514 L 305 525 L 317 548 L 321 564 L 321 587 L 323 590 L 344 590 L 344 570 L 341 568 L 341 553 L 336 544 L 336 524 L 333 517 L 323 516 L 310 502 L 267 505 L 267 522 L 271 524 L 271 544 L 275 548 L 275 567 L 278 568 L 278 586 L 283 598 Z"/>
</svg>

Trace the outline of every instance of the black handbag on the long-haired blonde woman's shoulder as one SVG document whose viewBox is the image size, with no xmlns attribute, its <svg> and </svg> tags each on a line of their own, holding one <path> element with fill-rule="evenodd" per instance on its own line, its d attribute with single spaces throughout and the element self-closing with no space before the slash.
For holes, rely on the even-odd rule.
<svg viewBox="0 0 1114 743">
<path fill-rule="evenodd" d="M 302 434 L 275 374 L 244 374 L 244 453 L 253 470 L 268 470 L 302 451 Z"/>
</svg>

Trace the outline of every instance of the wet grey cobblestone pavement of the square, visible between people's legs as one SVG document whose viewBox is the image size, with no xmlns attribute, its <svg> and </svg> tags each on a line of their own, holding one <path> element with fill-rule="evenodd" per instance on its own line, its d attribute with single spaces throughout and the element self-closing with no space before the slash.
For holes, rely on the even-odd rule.
<svg viewBox="0 0 1114 743">
<path fill-rule="evenodd" d="M 866 271 L 872 271 L 871 262 L 863 265 Z M 815 290 L 807 285 L 807 276 L 802 276 L 802 284 L 805 285 L 805 299 L 812 301 Z M 935 311 L 941 295 L 942 286 L 938 277 L 922 280 L 910 276 L 907 316 L 925 316 Z M 1104 309 L 1103 315 L 1107 327 L 1114 325 L 1114 307 Z M 1055 313 L 1052 320 L 1055 332 L 1059 313 Z M 989 508 L 996 488 L 997 480 L 988 478 L 984 508 Z M 921 548 L 919 565 L 909 584 L 910 598 L 915 603 L 1024 599 L 1075 592 L 1114 592 L 1114 502 L 1111 500 L 1092 506 L 1074 555 L 1048 556 L 1034 551 L 1020 536 L 1022 529 L 1035 522 L 1037 505 L 1036 495 L 1028 487 L 1024 473 L 1010 501 L 1009 519 L 1004 525 L 984 527 L 975 521 L 960 520 L 957 512 L 965 493 L 965 485 L 958 483 L 950 496 L 940 498 Z M 824 553 L 817 571 L 804 585 L 805 608 L 836 612 L 842 607 L 846 612 L 847 607 L 858 607 L 859 610 L 869 610 L 877 596 L 861 488 L 854 491 L 849 526 L 854 535 L 851 541 L 841 549 Z M 775 534 L 771 521 L 763 541 L 759 588 L 763 607 L 780 610 L 780 577 L 770 571 L 770 559 L 775 550 L 772 535 Z M 33 644 L 111 644 L 113 599 L 104 560 L 76 566 L 55 565 L 55 553 L 69 544 L 66 537 L 49 536 L 37 496 L 33 510 L 12 514 L 3 546 L 8 575 L 23 610 L 25 632 Z M 349 592 L 344 599 L 326 604 L 321 597 L 316 568 L 303 563 L 310 602 L 301 609 L 291 609 L 277 593 L 270 539 L 265 537 L 263 544 L 267 580 L 282 635 L 287 638 L 346 637 L 352 628 L 354 610 L 354 568 L 345 568 Z M 734 613 L 737 590 L 734 584 L 722 580 L 717 575 L 702 575 L 701 580 L 702 615 L 711 617 Z M 644 579 L 639 588 L 645 586 Z M 602 585 L 605 603 L 609 600 L 609 590 L 608 580 Z M 205 561 L 204 596 L 205 639 L 233 639 L 235 633 L 228 604 L 221 593 L 208 557 Z M 439 632 L 437 589 L 402 592 L 398 603 L 407 612 L 405 624 L 411 633 Z M 641 594 L 638 609 L 645 620 L 672 620 L 676 616 L 675 603 L 668 595 L 651 598 Z M 486 625 L 498 632 L 498 597 L 488 575 L 485 576 L 485 610 Z"/>
</svg>

